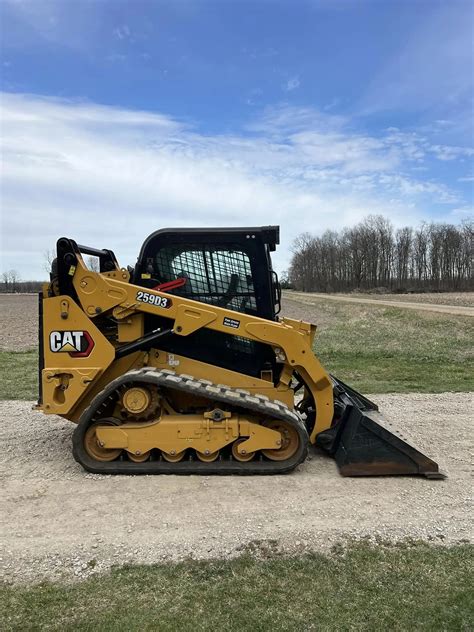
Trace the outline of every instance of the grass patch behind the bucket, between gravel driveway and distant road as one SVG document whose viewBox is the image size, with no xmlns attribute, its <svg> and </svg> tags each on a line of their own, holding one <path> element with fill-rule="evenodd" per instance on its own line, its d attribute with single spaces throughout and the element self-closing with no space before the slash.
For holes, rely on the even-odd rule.
<svg viewBox="0 0 474 632">
<path fill-rule="evenodd" d="M 321 300 L 315 352 L 365 393 L 474 390 L 474 319 Z"/>
</svg>

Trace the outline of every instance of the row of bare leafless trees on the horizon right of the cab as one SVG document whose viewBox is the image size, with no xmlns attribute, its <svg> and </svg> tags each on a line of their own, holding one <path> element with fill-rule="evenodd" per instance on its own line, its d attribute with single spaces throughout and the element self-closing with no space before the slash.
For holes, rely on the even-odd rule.
<svg viewBox="0 0 474 632">
<path fill-rule="evenodd" d="M 288 281 L 304 292 L 472 290 L 473 231 L 472 221 L 395 230 L 382 215 L 370 215 L 320 237 L 302 233 Z"/>
</svg>

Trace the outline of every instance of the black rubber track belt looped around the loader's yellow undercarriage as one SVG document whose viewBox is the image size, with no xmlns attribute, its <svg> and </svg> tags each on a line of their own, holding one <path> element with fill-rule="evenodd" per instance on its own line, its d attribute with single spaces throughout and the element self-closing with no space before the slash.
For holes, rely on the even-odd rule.
<svg viewBox="0 0 474 632">
<path fill-rule="evenodd" d="M 134 463 L 128 460 L 102 462 L 92 459 L 84 448 L 84 436 L 89 426 L 100 418 L 101 408 L 105 408 L 117 389 L 127 384 L 147 383 L 168 389 L 176 389 L 206 397 L 212 402 L 225 404 L 235 411 L 251 411 L 265 415 L 269 419 L 281 419 L 291 424 L 298 432 L 300 445 L 297 452 L 285 461 L 270 461 L 257 458 L 247 463 L 231 459 L 204 463 L 186 460 L 169 463 L 164 459 Z M 232 389 L 208 380 L 197 380 L 189 375 L 179 375 L 174 371 L 157 370 L 152 367 L 129 371 L 111 382 L 92 400 L 83 412 L 74 431 L 73 455 L 78 463 L 94 474 L 286 474 L 302 463 L 308 454 L 308 433 L 301 417 L 279 401 L 272 401 L 266 395 L 250 394 L 242 389 Z"/>
</svg>

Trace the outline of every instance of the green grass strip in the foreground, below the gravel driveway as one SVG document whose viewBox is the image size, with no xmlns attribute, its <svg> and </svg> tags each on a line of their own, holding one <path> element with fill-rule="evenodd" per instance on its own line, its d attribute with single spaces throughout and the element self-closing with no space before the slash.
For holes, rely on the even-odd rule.
<svg viewBox="0 0 474 632">
<path fill-rule="evenodd" d="M 125 567 L 1 588 L 3 630 L 472 630 L 474 547 Z"/>
</svg>

